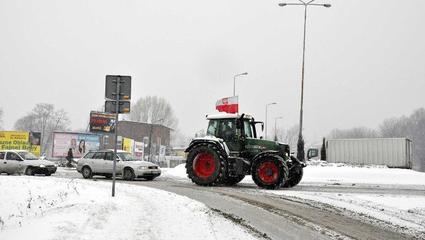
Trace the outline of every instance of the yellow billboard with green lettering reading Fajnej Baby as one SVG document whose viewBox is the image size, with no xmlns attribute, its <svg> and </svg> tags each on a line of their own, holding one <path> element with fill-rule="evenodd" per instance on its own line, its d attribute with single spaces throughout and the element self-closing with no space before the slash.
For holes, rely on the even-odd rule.
<svg viewBox="0 0 425 240">
<path fill-rule="evenodd" d="M 0 131 L 0 150 L 27 150 L 40 155 L 41 132 L 33 132 L 31 142 L 28 131 Z"/>
</svg>

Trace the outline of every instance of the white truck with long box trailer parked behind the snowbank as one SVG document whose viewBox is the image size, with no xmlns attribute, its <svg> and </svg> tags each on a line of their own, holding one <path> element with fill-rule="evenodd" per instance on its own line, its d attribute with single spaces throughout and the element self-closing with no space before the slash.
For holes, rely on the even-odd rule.
<svg viewBox="0 0 425 240">
<path fill-rule="evenodd" d="M 312 145 L 307 159 L 320 159 L 322 142 Z M 325 140 L 326 161 L 386 165 L 412 169 L 412 141 L 407 138 L 362 138 Z"/>
</svg>

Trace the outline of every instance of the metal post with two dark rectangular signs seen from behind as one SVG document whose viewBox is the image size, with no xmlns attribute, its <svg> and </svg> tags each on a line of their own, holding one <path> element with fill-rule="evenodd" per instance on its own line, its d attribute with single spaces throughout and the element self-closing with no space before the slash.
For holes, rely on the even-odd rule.
<svg viewBox="0 0 425 240">
<path fill-rule="evenodd" d="M 115 196 L 115 175 L 117 169 L 117 138 L 118 138 L 118 114 L 130 113 L 131 100 L 131 76 L 106 75 L 105 85 L 105 113 L 115 114 L 115 147 L 114 168 L 112 171 L 112 197 Z M 108 101 L 109 100 L 109 101 Z M 120 108 L 120 106 L 123 106 Z"/>
</svg>

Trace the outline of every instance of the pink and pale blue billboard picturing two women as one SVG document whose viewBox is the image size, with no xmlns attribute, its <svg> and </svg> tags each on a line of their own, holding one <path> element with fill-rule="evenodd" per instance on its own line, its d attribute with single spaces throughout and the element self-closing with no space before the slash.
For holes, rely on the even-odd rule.
<svg viewBox="0 0 425 240">
<path fill-rule="evenodd" d="M 80 132 L 53 132 L 52 157 L 66 157 L 72 148 L 74 158 L 79 158 L 89 150 L 99 150 L 100 134 Z"/>
</svg>

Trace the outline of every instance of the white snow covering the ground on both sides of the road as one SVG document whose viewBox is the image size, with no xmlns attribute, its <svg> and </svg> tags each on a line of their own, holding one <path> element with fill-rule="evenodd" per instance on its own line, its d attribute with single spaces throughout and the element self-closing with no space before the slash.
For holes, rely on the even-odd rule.
<svg viewBox="0 0 425 240">
<path fill-rule="evenodd" d="M 160 178 L 190 181 L 185 170 L 184 164 L 165 168 Z M 59 168 L 57 174 L 66 171 Z M 254 185 L 250 176 L 241 183 Z M 419 189 L 422 194 L 302 190 L 312 186 Z M 425 233 L 424 186 L 425 173 L 413 170 L 318 164 L 304 168 L 296 188 L 250 191 L 322 202 Z M 0 239 L 255 239 L 184 196 L 120 182 L 115 197 L 111 194 L 109 182 L 0 175 Z"/>
</svg>

